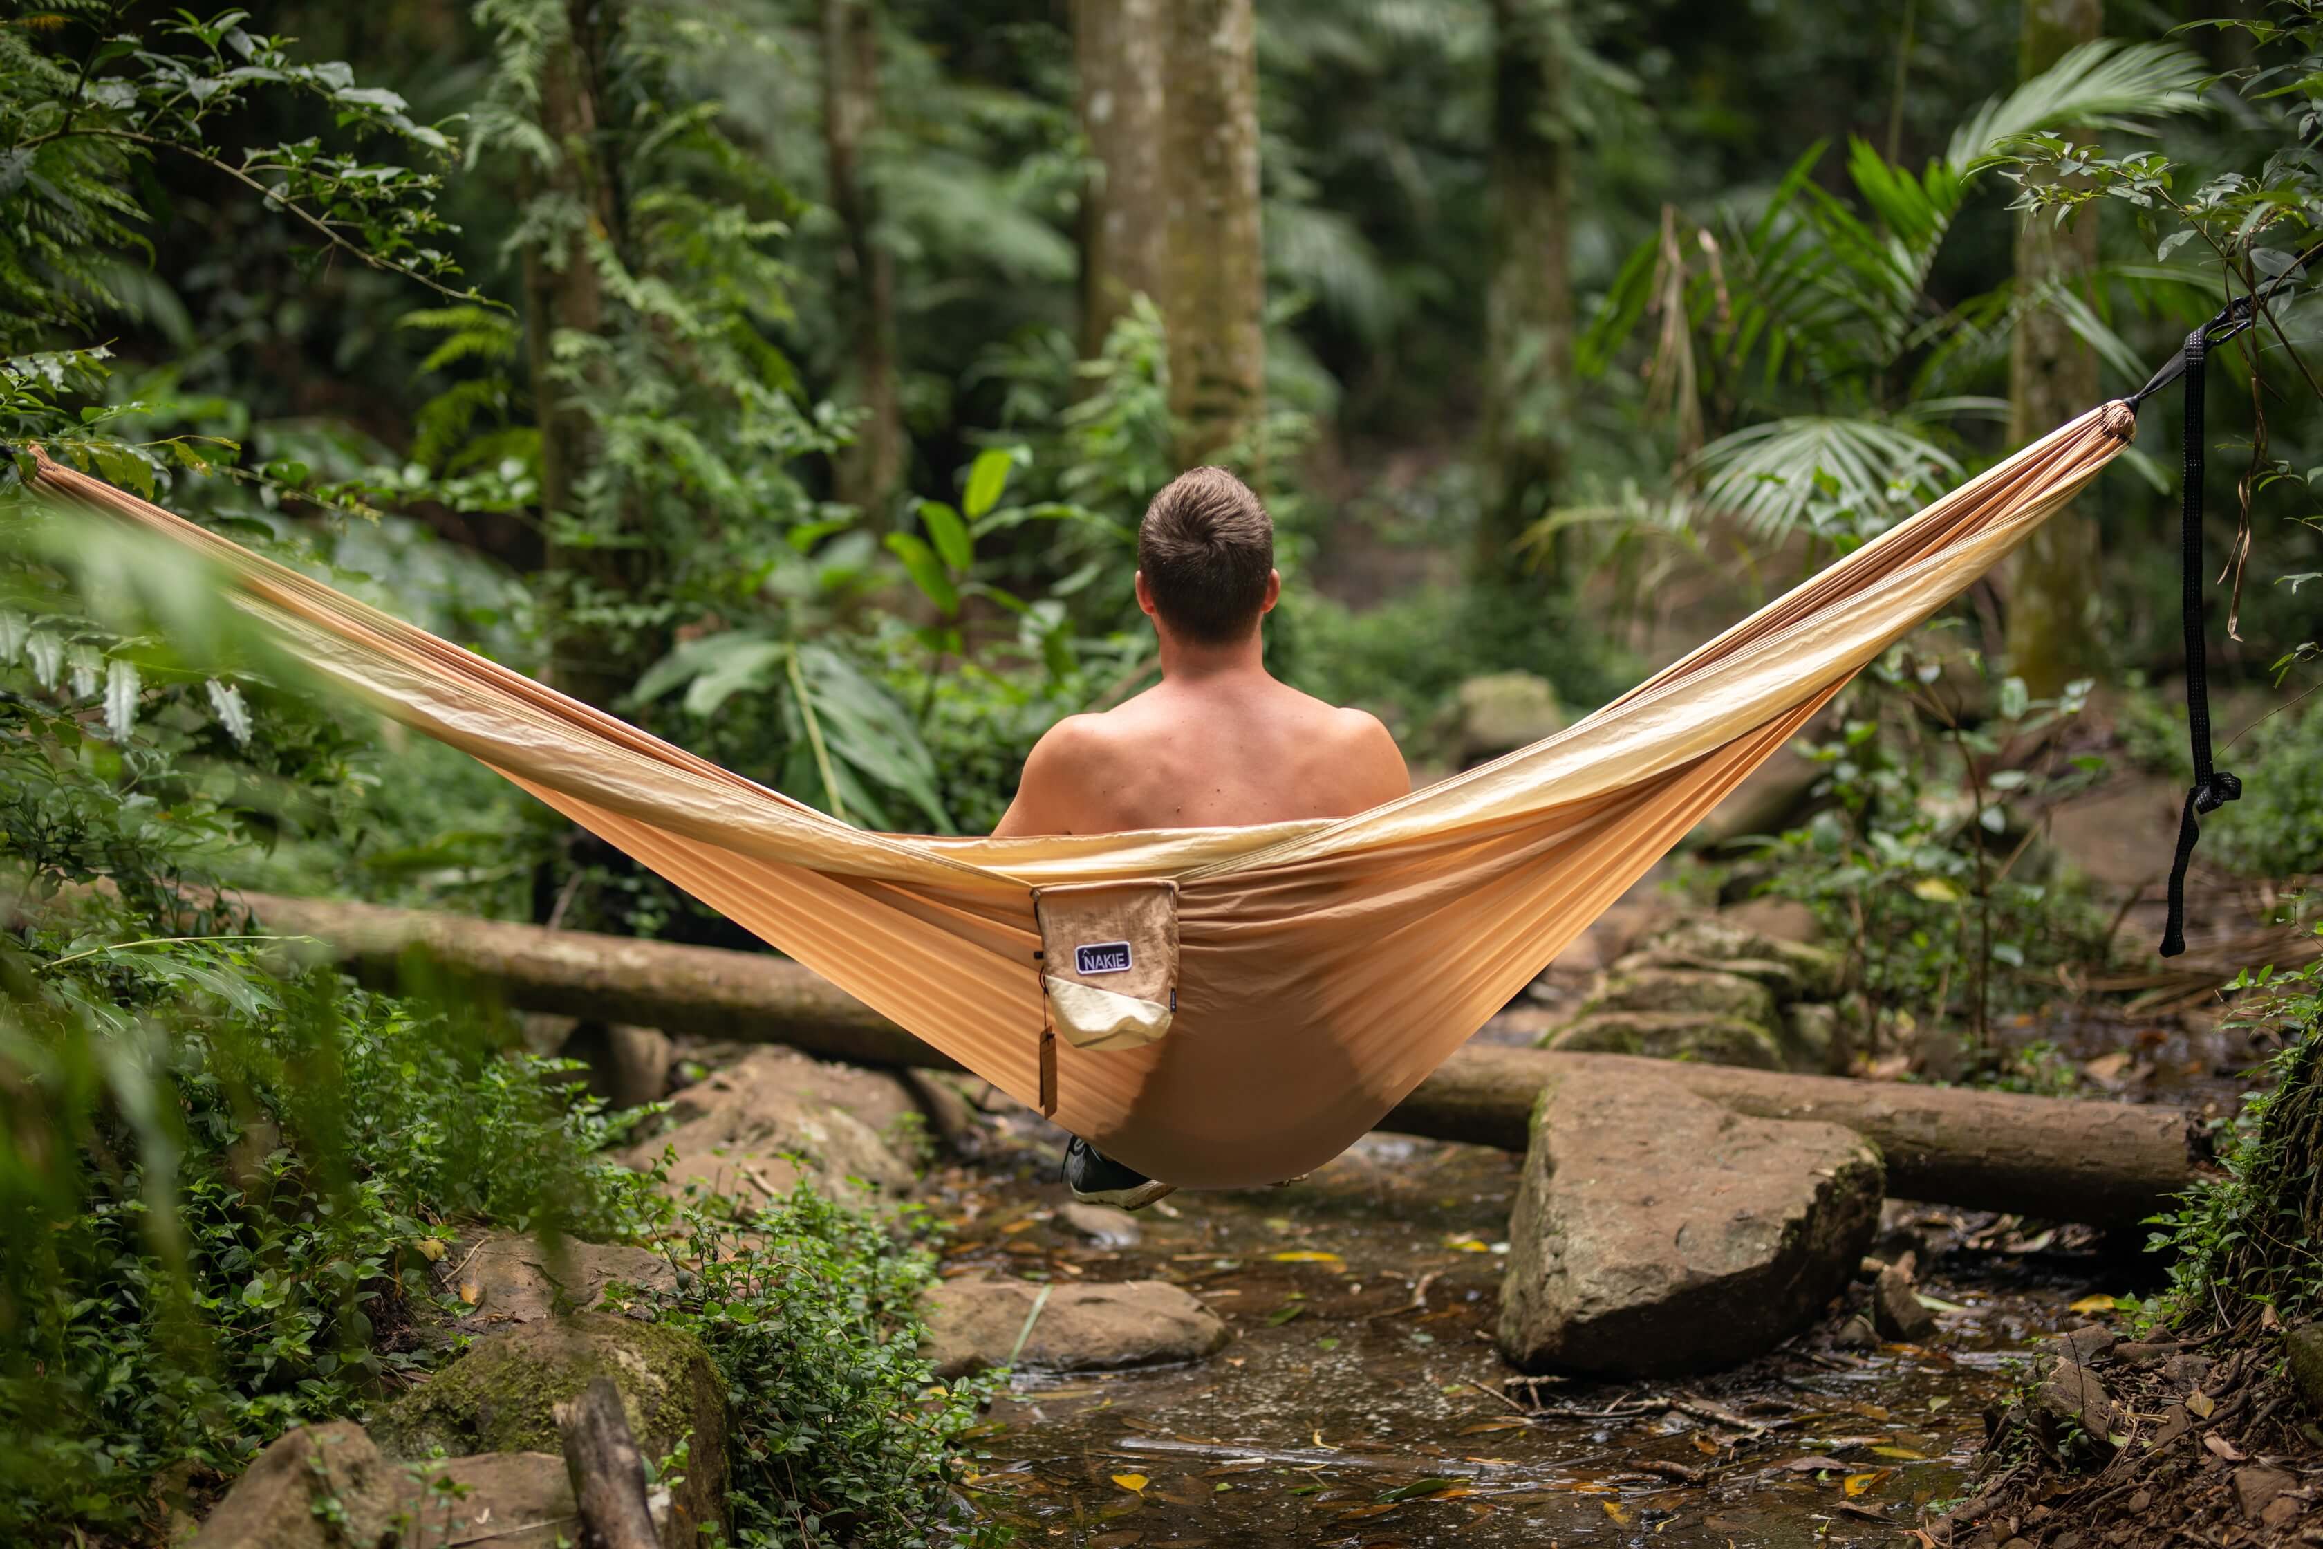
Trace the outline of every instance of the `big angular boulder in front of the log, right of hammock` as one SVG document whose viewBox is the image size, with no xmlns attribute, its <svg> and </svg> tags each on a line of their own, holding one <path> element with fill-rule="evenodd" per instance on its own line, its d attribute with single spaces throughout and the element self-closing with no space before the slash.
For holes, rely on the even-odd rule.
<svg viewBox="0 0 2323 1549">
<path fill-rule="evenodd" d="M 1661 1075 L 1554 1075 L 1508 1226 L 1501 1352 L 1645 1377 L 1772 1349 L 1849 1282 L 1882 1166 L 1835 1124 L 1726 1112 Z"/>
</svg>

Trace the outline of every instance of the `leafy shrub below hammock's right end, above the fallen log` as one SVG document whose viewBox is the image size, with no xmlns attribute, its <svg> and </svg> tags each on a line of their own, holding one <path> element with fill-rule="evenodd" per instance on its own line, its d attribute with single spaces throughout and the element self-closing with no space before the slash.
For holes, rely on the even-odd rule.
<svg viewBox="0 0 2323 1549">
<path fill-rule="evenodd" d="M 1842 692 L 1837 736 L 1800 743 L 1833 806 L 1752 859 L 1770 894 L 1847 943 L 1875 1017 L 1958 1015 L 1988 1047 L 1993 1015 L 2054 994 L 2058 964 L 2102 959 L 2102 920 L 2033 857 L 2047 810 L 2105 764 L 2058 752 L 2088 683 L 2047 701 L 2019 678 L 1988 683 L 1975 653 L 1951 667 L 1991 692 L 1993 715 L 1970 720 L 1947 660 L 1891 650 Z M 2040 1085 L 2037 1057 L 2012 1080 Z"/>
</svg>

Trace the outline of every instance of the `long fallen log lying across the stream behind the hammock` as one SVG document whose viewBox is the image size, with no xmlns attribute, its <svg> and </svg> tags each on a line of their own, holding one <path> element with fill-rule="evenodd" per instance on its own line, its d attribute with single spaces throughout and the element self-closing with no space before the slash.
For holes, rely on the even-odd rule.
<svg viewBox="0 0 2323 1549">
<path fill-rule="evenodd" d="M 548 931 L 372 903 L 244 894 L 276 931 L 316 936 L 365 982 L 402 982 L 413 957 L 520 1010 L 664 1031 L 785 1043 L 873 1066 L 959 1066 L 794 961 Z M 2188 1115 L 2167 1105 L 2040 1098 L 1837 1075 L 1786 1075 L 1628 1054 L 1561 1054 L 1470 1043 L 1380 1129 L 1522 1152 L 1549 1068 L 1649 1066 L 1733 1112 L 1826 1119 L 1868 1136 L 1889 1194 L 1977 1210 L 2126 1226 L 2195 1180 Z"/>
</svg>

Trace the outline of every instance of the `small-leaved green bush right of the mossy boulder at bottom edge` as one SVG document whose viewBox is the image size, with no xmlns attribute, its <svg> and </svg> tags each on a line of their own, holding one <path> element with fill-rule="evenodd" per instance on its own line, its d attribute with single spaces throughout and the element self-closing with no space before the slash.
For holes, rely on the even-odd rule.
<svg viewBox="0 0 2323 1549">
<path fill-rule="evenodd" d="M 990 1384 L 938 1384 L 920 1356 L 925 1217 L 883 1222 L 799 1184 L 743 1219 L 688 1224 L 662 1317 L 702 1340 L 734 1400 L 734 1542 L 1006 1542 L 955 1530 L 959 1440 Z"/>
</svg>

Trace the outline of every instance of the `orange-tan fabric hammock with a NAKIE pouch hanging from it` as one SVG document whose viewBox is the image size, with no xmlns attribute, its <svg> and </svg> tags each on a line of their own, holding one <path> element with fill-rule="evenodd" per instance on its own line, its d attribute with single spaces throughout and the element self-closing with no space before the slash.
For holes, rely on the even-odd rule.
<svg viewBox="0 0 2323 1549">
<path fill-rule="evenodd" d="M 483 759 L 1108 1157 L 1252 1187 L 1378 1124 L 2135 432 L 2128 404 L 2093 409 L 1596 715 L 1387 806 L 1064 838 L 853 829 L 98 478 L 37 458 L 35 485 L 214 562 L 232 601 L 328 680 Z M 1131 961 L 1136 985 L 1110 978 Z"/>
</svg>

